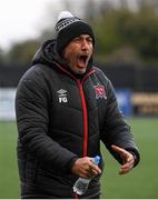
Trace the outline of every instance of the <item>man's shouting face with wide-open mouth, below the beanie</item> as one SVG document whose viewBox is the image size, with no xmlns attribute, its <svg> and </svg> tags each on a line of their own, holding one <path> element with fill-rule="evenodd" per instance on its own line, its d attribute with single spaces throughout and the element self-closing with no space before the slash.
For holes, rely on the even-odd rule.
<svg viewBox="0 0 158 200">
<path fill-rule="evenodd" d="M 75 73 L 85 73 L 92 51 L 92 38 L 80 34 L 65 48 L 62 57 Z"/>
</svg>

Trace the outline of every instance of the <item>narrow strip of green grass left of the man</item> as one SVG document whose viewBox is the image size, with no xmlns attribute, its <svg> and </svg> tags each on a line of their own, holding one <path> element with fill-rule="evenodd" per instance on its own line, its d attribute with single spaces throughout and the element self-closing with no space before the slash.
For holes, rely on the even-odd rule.
<svg viewBox="0 0 158 200">
<path fill-rule="evenodd" d="M 0 122 L 0 199 L 18 199 L 16 123 Z"/>
</svg>

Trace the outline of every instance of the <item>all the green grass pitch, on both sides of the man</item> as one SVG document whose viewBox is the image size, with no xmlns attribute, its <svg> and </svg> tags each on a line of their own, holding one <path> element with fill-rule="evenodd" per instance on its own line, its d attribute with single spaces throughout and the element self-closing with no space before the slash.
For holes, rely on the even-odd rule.
<svg viewBox="0 0 158 200">
<path fill-rule="evenodd" d="M 140 164 L 130 173 L 118 174 L 118 162 L 102 146 L 105 171 L 101 179 L 102 198 L 158 198 L 158 119 L 129 119 L 140 153 Z M 0 122 L 0 199 L 20 198 L 17 169 L 16 123 Z"/>
</svg>

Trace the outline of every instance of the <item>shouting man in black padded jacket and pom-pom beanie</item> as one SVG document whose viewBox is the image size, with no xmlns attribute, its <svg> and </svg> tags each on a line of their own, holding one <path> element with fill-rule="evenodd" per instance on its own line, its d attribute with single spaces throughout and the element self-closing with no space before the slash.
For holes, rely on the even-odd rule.
<svg viewBox="0 0 158 200">
<path fill-rule="evenodd" d="M 99 198 L 103 160 L 100 141 L 129 172 L 139 152 L 118 109 L 115 90 L 92 66 L 91 27 L 63 11 L 57 38 L 46 41 L 21 78 L 16 98 L 21 198 Z M 77 196 L 79 178 L 92 178 Z"/>
</svg>

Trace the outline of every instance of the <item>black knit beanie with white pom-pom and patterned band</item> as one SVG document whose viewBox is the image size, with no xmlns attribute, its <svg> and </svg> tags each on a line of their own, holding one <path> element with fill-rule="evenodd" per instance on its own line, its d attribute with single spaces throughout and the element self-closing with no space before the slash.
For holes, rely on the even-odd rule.
<svg viewBox="0 0 158 200">
<path fill-rule="evenodd" d="M 57 51 L 59 54 L 72 39 L 80 34 L 89 34 L 95 46 L 95 36 L 91 27 L 72 16 L 69 11 L 62 11 L 59 14 L 55 29 L 57 31 Z"/>
</svg>

